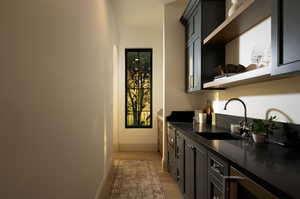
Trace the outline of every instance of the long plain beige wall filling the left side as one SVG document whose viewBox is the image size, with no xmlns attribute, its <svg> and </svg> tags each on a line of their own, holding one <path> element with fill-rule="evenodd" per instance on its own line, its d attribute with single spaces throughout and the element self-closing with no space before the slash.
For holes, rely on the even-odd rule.
<svg viewBox="0 0 300 199">
<path fill-rule="evenodd" d="M 1 1 L 1 198 L 96 197 L 111 164 L 112 20 L 109 0 Z"/>
</svg>

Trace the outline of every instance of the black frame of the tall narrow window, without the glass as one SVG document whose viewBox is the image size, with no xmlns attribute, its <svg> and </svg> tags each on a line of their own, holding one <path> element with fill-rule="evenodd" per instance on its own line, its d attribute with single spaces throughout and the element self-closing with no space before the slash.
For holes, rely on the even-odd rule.
<svg viewBox="0 0 300 199">
<path fill-rule="evenodd" d="M 128 102 L 128 82 L 127 82 L 127 54 L 129 52 L 150 52 L 150 66 L 151 66 L 151 72 L 150 72 L 150 125 L 149 126 L 129 126 L 127 123 L 127 102 Z M 153 128 L 153 48 L 125 48 L 125 128 L 126 129 L 151 129 Z"/>
</svg>

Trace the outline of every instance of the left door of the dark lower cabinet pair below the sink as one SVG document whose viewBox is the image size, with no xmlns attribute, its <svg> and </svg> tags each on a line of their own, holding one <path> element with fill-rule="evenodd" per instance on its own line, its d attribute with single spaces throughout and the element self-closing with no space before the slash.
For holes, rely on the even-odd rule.
<svg viewBox="0 0 300 199">
<path fill-rule="evenodd" d="M 195 199 L 195 147 L 185 141 L 185 199 Z"/>
</svg>

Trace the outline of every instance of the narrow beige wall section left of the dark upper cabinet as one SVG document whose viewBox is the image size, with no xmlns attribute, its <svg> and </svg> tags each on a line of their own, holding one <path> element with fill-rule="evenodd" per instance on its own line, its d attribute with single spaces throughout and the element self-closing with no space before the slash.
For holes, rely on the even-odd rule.
<svg viewBox="0 0 300 199">
<path fill-rule="evenodd" d="M 194 110 L 203 107 L 201 93 L 185 92 L 185 33 L 179 19 L 186 1 L 176 1 L 164 7 L 165 115 L 171 111 Z"/>
</svg>

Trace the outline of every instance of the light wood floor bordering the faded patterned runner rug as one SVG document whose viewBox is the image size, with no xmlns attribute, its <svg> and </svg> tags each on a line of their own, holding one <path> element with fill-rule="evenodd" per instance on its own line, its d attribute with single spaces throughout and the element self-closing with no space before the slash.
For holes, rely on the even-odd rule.
<svg viewBox="0 0 300 199">
<path fill-rule="evenodd" d="M 156 153 L 156 152 L 119 152 L 119 153 L 114 154 L 113 159 L 114 159 L 115 170 L 117 170 L 120 160 L 147 160 L 147 161 L 151 162 L 151 166 L 153 165 L 153 170 L 155 170 L 155 173 L 157 173 L 157 175 L 159 177 L 159 181 L 162 185 L 162 188 L 164 191 L 164 196 L 165 196 L 164 198 L 165 199 L 182 199 L 183 198 L 179 191 L 178 185 L 175 183 L 173 178 L 167 172 L 162 171 L 161 156 L 159 153 Z M 133 171 L 132 173 L 136 174 L 137 172 L 138 171 Z M 134 177 L 134 176 L 127 176 L 127 177 L 130 178 L 130 177 Z M 115 179 L 115 183 L 117 183 L 116 180 L 117 179 Z M 135 180 L 139 181 L 139 179 L 135 179 Z M 129 189 L 128 189 L 128 191 L 129 191 Z M 124 192 L 124 190 L 123 190 L 123 192 Z M 112 196 L 113 196 L 113 194 L 112 194 Z M 112 198 L 114 198 L 114 197 L 112 197 Z M 137 198 L 137 197 L 134 197 L 134 198 Z M 155 199 L 155 197 L 152 197 L 152 198 Z M 131 199 L 131 198 L 127 197 L 126 199 Z M 138 198 L 138 199 L 143 199 L 143 197 Z"/>
</svg>

